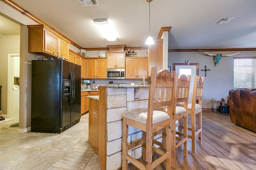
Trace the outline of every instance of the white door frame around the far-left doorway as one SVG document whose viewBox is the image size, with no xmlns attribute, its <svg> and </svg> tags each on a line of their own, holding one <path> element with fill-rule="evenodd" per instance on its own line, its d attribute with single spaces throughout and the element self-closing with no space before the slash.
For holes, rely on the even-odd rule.
<svg viewBox="0 0 256 170">
<path fill-rule="evenodd" d="M 20 54 L 8 54 L 8 77 L 7 77 L 7 117 L 10 117 L 10 113 L 12 111 L 12 107 L 11 107 L 11 100 L 12 100 L 12 89 L 13 89 L 13 86 L 12 84 L 14 84 L 14 79 L 11 78 L 11 75 L 12 75 L 12 67 L 13 67 L 13 64 L 12 63 L 12 57 L 20 57 Z"/>
</svg>

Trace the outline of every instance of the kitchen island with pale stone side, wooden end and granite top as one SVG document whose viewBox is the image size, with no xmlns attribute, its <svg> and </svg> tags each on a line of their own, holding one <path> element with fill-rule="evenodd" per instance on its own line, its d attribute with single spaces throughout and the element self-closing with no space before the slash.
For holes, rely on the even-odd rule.
<svg viewBox="0 0 256 170">
<path fill-rule="evenodd" d="M 122 166 L 122 115 L 126 111 L 147 108 L 148 94 L 148 85 L 102 84 L 98 99 L 88 96 L 89 142 L 98 152 L 98 163 L 102 170 L 115 170 Z M 136 140 L 141 136 L 142 132 L 138 129 L 130 129 L 129 139 Z M 141 154 L 136 153 L 140 149 L 132 151 L 138 158 Z"/>
</svg>

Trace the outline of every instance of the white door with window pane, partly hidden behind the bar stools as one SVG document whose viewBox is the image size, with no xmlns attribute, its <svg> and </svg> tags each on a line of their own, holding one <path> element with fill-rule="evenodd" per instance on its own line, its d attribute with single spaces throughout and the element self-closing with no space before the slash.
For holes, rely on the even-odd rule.
<svg viewBox="0 0 256 170">
<path fill-rule="evenodd" d="M 194 76 L 199 74 L 199 63 L 173 63 L 173 70 L 178 72 L 178 75 L 191 75 L 188 103 L 192 103 Z"/>
</svg>

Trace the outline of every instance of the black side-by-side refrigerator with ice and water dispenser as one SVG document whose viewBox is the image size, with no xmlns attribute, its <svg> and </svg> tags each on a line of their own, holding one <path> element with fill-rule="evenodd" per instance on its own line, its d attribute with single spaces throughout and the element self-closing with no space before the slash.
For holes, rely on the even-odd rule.
<svg viewBox="0 0 256 170">
<path fill-rule="evenodd" d="M 61 133 L 81 117 L 81 66 L 32 60 L 31 131 Z"/>
</svg>

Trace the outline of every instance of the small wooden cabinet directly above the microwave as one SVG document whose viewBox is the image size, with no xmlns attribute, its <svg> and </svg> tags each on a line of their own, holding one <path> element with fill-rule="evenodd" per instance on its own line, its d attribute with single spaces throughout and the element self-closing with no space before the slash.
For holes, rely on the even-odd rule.
<svg viewBox="0 0 256 170">
<path fill-rule="evenodd" d="M 107 68 L 125 68 L 126 52 L 107 52 Z"/>
</svg>

